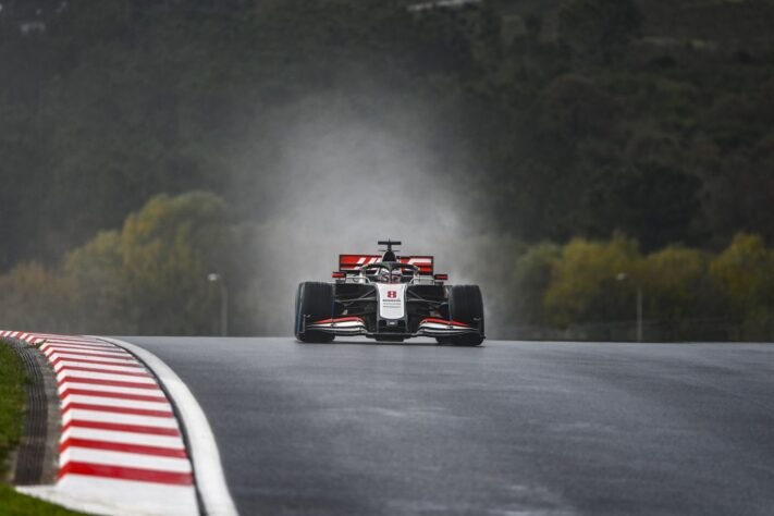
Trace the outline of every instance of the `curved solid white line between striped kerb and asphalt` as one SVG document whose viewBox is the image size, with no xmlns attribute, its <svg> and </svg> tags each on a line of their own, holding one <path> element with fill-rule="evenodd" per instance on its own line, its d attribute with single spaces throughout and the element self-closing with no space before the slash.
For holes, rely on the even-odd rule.
<svg viewBox="0 0 774 516">
<path fill-rule="evenodd" d="M 123 347 L 139 358 L 150 369 L 172 397 L 183 422 L 185 435 L 191 446 L 189 455 L 194 466 L 196 489 L 208 516 L 238 515 L 223 475 L 220 452 L 205 411 L 188 386 L 167 364 L 152 353 L 135 344 L 98 336 L 103 341 Z"/>
</svg>

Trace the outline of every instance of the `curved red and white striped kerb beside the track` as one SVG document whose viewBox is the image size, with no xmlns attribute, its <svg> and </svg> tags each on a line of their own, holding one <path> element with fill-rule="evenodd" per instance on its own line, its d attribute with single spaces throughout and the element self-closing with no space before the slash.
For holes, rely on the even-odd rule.
<svg viewBox="0 0 774 516">
<path fill-rule="evenodd" d="M 25 492 L 103 514 L 198 514 L 194 474 L 172 404 L 152 373 L 115 344 L 0 332 L 53 366 L 62 416 L 54 487 Z"/>
</svg>

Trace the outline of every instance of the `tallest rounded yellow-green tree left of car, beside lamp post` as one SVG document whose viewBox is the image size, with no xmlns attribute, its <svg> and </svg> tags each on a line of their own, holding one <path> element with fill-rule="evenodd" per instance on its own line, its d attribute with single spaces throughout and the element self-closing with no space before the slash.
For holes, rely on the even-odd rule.
<svg viewBox="0 0 774 516">
<path fill-rule="evenodd" d="M 228 279 L 225 204 L 212 194 L 152 198 L 130 216 L 121 251 L 137 332 L 208 333 L 217 307 L 205 280 Z"/>
</svg>

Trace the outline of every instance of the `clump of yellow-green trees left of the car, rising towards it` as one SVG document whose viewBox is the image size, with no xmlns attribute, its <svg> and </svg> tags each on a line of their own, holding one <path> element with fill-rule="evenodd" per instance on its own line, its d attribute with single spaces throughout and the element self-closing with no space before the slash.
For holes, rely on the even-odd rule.
<svg viewBox="0 0 774 516">
<path fill-rule="evenodd" d="M 65 333 L 214 334 L 218 285 L 236 273 L 223 199 L 159 196 L 54 266 L 28 262 L 0 277 L 3 324 Z M 237 304 L 239 299 L 234 299 Z"/>
</svg>

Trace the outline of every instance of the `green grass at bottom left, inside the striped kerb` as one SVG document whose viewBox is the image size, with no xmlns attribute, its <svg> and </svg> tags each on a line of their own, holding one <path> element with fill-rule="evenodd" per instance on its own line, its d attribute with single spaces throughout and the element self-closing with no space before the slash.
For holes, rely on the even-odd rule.
<svg viewBox="0 0 774 516">
<path fill-rule="evenodd" d="M 22 357 L 0 341 L 0 516 L 82 514 L 26 496 L 3 483 L 9 478 L 9 455 L 22 439 L 28 382 Z"/>
</svg>

